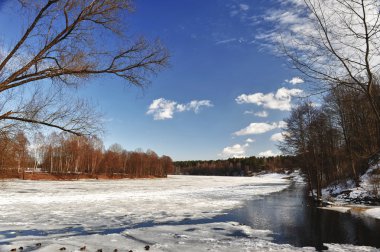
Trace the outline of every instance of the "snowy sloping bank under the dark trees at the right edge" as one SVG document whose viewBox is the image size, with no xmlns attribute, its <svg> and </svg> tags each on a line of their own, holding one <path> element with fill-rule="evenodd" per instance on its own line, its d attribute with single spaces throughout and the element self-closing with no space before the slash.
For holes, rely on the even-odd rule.
<svg viewBox="0 0 380 252">
<path fill-rule="evenodd" d="M 373 180 L 379 178 L 380 164 L 370 167 L 365 174 L 360 177 L 360 186 L 356 187 L 355 182 L 350 180 L 344 184 L 331 185 L 322 191 L 324 199 L 332 201 L 333 205 L 325 209 L 340 212 L 361 213 L 373 218 L 380 219 L 380 206 L 368 207 L 363 205 L 368 199 L 380 198 L 380 184 Z M 356 203 L 356 204 L 353 204 Z M 360 209 L 360 211 L 358 211 Z"/>
</svg>

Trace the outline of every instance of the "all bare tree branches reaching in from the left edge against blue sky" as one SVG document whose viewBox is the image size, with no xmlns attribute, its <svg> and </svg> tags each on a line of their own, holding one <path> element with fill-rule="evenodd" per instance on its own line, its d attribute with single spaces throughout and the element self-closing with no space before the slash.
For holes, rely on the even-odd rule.
<svg viewBox="0 0 380 252">
<path fill-rule="evenodd" d="M 51 87 L 67 87 L 91 77 L 113 75 L 143 86 L 151 74 L 167 64 L 159 43 L 130 38 L 123 18 L 133 10 L 125 0 L 19 0 L 30 22 L 19 40 L 0 54 L 0 127 L 17 122 L 45 125 L 74 134 L 90 134 L 98 115 L 83 101 L 65 95 L 46 95 Z M 112 38 L 107 41 L 106 38 Z M 118 42 L 115 42 L 117 39 Z M 122 46 L 117 46 L 122 44 Z M 25 87 L 17 106 L 14 96 Z M 30 94 L 32 93 L 32 94 Z M 43 95 L 41 95 L 43 94 Z M 53 98 L 52 98 L 53 97 Z M 15 123 L 16 122 L 16 123 Z"/>
</svg>

